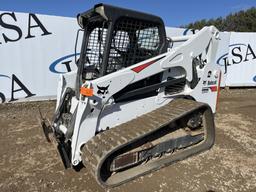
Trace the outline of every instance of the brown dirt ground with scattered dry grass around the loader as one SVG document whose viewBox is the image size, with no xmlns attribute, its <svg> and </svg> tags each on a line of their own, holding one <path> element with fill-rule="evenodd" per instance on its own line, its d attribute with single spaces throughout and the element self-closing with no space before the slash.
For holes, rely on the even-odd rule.
<svg viewBox="0 0 256 192">
<path fill-rule="evenodd" d="M 37 106 L 54 110 L 52 101 L 0 105 L 0 191 L 105 191 L 86 168 L 64 170 Z M 222 90 L 215 120 L 210 151 L 107 191 L 256 191 L 256 89 Z"/>
</svg>

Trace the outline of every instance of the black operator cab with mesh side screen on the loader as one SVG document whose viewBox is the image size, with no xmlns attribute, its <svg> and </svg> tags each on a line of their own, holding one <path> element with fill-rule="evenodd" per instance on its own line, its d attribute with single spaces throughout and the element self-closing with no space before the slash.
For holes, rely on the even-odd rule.
<svg viewBox="0 0 256 192">
<path fill-rule="evenodd" d="M 78 15 L 84 29 L 78 64 L 79 84 L 167 51 L 160 17 L 98 4 Z"/>
</svg>

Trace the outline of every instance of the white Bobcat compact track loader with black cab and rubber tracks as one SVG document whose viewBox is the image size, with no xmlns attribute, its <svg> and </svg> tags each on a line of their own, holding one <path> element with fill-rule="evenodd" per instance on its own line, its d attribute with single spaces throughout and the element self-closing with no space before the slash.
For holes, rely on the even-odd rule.
<svg viewBox="0 0 256 192">
<path fill-rule="evenodd" d="M 78 23 L 78 69 L 60 75 L 53 121 L 42 122 L 66 167 L 82 163 L 113 187 L 213 145 L 215 27 L 167 37 L 161 18 L 105 4 Z"/>
</svg>

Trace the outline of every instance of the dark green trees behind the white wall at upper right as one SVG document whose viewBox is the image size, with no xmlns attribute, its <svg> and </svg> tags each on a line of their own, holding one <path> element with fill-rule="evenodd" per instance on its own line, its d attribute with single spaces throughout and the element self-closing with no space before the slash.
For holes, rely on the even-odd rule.
<svg viewBox="0 0 256 192">
<path fill-rule="evenodd" d="M 256 32 L 256 8 L 252 7 L 245 11 L 232 13 L 224 18 L 202 19 L 183 27 L 190 29 L 201 29 L 204 26 L 214 25 L 220 31 Z"/>
</svg>

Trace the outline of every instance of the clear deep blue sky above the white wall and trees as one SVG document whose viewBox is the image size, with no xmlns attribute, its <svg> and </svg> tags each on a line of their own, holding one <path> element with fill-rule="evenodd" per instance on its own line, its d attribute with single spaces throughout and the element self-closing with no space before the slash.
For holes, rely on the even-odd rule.
<svg viewBox="0 0 256 192">
<path fill-rule="evenodd" d="M 0 0 L 0 11 L 76 17 L 97 3 L 158 15 L 170 27 L 256 7 L 256 0 Z"/>
</svg>

